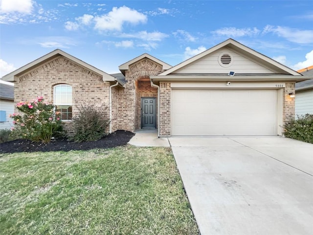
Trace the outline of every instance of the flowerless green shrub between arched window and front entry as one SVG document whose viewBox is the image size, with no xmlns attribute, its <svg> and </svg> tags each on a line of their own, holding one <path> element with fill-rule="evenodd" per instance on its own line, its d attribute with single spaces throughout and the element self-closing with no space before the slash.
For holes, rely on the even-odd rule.
<svg viewBox="0 0 313 235">
<path fill-rule="evenodd" d="M 110 118 L 108 107 L 104 104 L 81 104 L 78 107 L 79 115 L 73 118 L 75 142 L 97 141 L 108 133 Z"/>
</svg>

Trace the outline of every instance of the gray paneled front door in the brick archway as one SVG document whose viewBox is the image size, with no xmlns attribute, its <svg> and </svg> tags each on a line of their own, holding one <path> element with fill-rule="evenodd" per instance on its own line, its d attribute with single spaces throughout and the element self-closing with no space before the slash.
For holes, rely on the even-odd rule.
<svg viewBox="0 0 313 235">
<path fill-rule="evenodd" d="M 141 98 L 141 128 L 156 128 L 156 98 Z"/>
</svg>

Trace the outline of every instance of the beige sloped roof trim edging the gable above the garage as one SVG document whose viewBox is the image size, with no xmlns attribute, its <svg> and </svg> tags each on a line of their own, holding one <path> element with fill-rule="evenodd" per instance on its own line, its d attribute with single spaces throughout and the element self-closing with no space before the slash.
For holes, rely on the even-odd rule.
<svg viewBox="0 0 313 235">
<path fill-rule="evenodd" d="M 301 76 L 301 74 L 297 71 L 294 71 L 290 68 L 288 68 L 287 66 L 284 66 L 280 63 L 278 63 L 277 61 L 249 48 L 246 47 L 243 44 L 240 44 L 239 42 L 229 38 L 226 41 L 211 47 L 203 52 L 201 52 L 200 54 L 191 57 L 188 60 L 185 60 L 184 62 L 170 68 L 167 71 L 164 71 L 160 74 L 158 74 L 158 76 L 164 76 L 164 75 L 168 75 L 170 73 L 175 73 L 176 71 L 178 71 L 179 69 L 189 65 L 190 63 L 193 63 L 199 59 L 201 59 L 204 56 L 207 56 L 210 53 L 213 53 L 217 50 L 219 50 L 222 47 L 230 47 L 231 49 L 234 49 L 236 51 L 239 51 L 241 54 L 243 54 L 244 56 L 247 56 L 255 61 L 260 61 L 262 62 L 262 64 L 264 64 L 265 66 L 267 66 L 268 68 L 270 68 L 272 71 L 275 71 L 276 73 L 281 73 L 281 74 L 288 74 L 288 75 L 294 75 L 294 76 Z"/>
</svg>

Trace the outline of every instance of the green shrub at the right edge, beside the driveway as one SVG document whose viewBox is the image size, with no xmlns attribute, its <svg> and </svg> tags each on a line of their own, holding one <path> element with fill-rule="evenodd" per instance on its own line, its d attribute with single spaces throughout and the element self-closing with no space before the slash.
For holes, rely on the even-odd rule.
<svg viewBox="0 0 313 235">
<path fill-rule="evenodd" d="M 313 143 L 313 115 L 298 116 L 285 126 L 284 134 L 291 139 Z"/>
</svg>

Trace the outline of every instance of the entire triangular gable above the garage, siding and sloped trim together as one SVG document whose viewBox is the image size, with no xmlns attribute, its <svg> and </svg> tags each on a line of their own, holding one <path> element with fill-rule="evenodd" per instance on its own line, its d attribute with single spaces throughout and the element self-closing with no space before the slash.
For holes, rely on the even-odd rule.
<svg viewBox="0 0 313 235">
<path fill-rule="evenodd" d="M 239 60 L 228 67 L 219 65 L 219 56 L 227 52 Z M 211 61 L 210 61 L 211 60 Z M 214 62 L 213 62 L 214 60 Z M 243 62 L 245 61 L 245 62 Z M 240 63 L 246 63 L 245 65 Z M 300 73 L 270 59 L 269 57 L 246 47 L 233 39 L 228 39 L 215 47 L 211 47 L 202 53 L 183 61 L 177 66 L 160 73 L 158 76 L 177 74 L 177 73 L 228 73 L 235 71 L 236 73 L 272 73 L 272 74 L 288 74 L 301 76 Z"/>
</svg>

